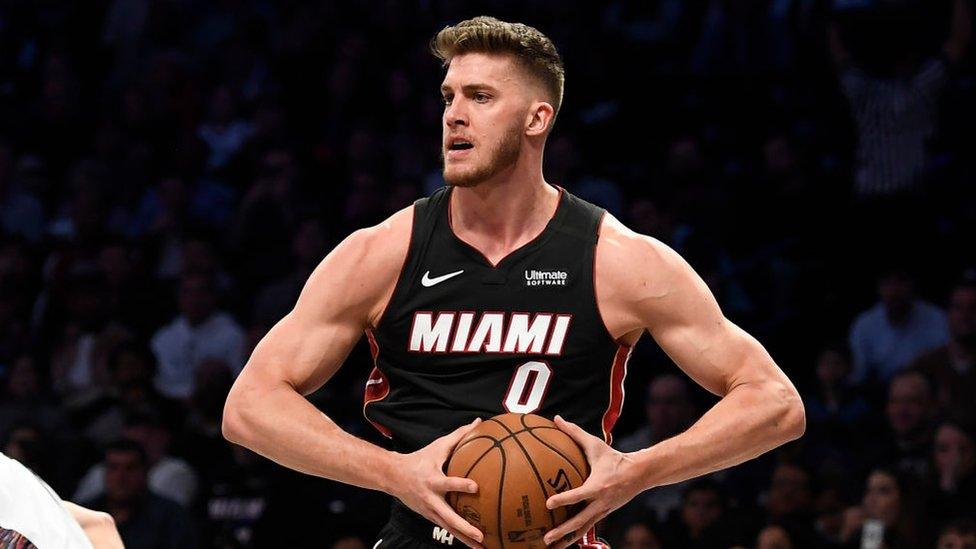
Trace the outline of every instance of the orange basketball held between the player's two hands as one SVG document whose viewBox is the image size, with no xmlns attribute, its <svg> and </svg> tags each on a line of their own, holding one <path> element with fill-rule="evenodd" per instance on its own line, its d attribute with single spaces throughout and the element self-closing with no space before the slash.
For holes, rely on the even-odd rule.
<svg viewBox="0 0 976 549">
<path fill-rule="evenodd" d="M 542 549 L 545 533 L 576 511 L 546 509 L 546 500 L 589 473 L 583 450 L 552 421 L 502 414 L 468 433 L 447 462 L 447 475 L 474 480 L 478 493 L 450 492 L 447 501 L 481 530 L 485 549 Z"/>
</svg>

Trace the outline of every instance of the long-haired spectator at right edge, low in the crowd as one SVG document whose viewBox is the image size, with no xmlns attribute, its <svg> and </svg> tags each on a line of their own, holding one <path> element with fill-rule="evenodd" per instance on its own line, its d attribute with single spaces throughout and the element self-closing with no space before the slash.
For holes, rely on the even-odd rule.
<svg viewBox="0 0 976 549">
<path fill-rule="evenodd" d="M 935 430 L 934 490 L 928 505 L 937 520 L 976 516 L 976 434 L 971 425 L 947 420 Z"/>
</svg>

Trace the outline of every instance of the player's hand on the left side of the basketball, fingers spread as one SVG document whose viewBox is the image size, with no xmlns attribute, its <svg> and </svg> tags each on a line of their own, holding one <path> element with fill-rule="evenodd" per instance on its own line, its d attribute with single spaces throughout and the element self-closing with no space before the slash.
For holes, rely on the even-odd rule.
<svg viewBox="0 0 976 549">
<path fill-rule="evenodd" d="M 479 423 L 481 418 L 458 427 L 416 452 L 399 454 L 400 463 L 395 473 L 398 478 L 394 479 L 390 494 L 476 549 L 482 549 L 481 531 L 455 513 L 445 497 L 448 492 L 477 493 L 478 485 L 468 478 L 445 475 L 444 463 L 458 442 Z"/>
</svg>

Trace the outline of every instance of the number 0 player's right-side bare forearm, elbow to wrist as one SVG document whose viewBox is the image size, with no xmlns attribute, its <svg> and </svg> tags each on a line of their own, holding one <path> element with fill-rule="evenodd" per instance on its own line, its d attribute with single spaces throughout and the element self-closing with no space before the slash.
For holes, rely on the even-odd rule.
<svg viewBox="0 0 976 549">
<path fill-rule="evenodd" d="M 738 385 L 687 431 L 630 454 L 644 489 L 738 465 L 798 438 L 803 408 L 788 382 Z"/>
</svg>

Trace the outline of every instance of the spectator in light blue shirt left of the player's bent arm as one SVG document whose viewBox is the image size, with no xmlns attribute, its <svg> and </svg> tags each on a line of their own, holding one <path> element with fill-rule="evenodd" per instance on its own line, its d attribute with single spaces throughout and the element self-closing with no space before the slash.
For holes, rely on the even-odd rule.
<svg viewBox="0 0 976 549">
<path fill-rule="evenodd" d="M 244 367 L 244 331 L 227 313 L 217 309 L 213 279 L 186 274 L 180 280 L 180 314 L 152 338 L 158 371 L 156 388 L 166 397 L 187 399 L 193 394 L 200 363 L 222 360 L 237 375 Z"/>
</svg>

